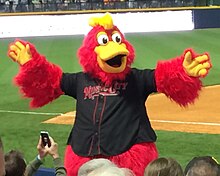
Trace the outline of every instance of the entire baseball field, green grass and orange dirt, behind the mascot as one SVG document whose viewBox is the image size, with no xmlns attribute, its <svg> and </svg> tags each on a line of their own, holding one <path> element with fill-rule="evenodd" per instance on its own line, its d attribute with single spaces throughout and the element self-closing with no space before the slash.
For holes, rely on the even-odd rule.
<svg viewBox="0 0 220 176">
<path fill-rule="evenodd" d="M 220 29 L 126 34 L 126 38 L 136 50 L 133 67 L 140 69 L 154 68 L 158 60 L 176 57 L 186 48 L 210 54 L 213 67 L 202 79 L 204 87 L 194 104 L 181 108 L 163 94 L 154 94 L 146 101 L 146 107 L 158 136 L 160 156 L 174 157 L 182 166 L 198 155 L 220 160 Z M 81 71 L 76 52 L 83 36 L 22 39 L 33 43 L 38 52 L 64 72 Z M 74 123 L 74 113 L 70 112 L 75 111 L 75 100 L 62 96 L 42 108 L 30 109 L 29 100 L 21 96 L 12 81 L 19 66 L 7 57 L 7 49 L 14 40 L 0 39 L 0 135 L 5 151 L 19 149 L 30 161 L 37 154 L 40 130 L 47 130 L 58 142 L 63 157 Z M 52 167 L 50 158 L 44 166 Z"/>
</svg>

